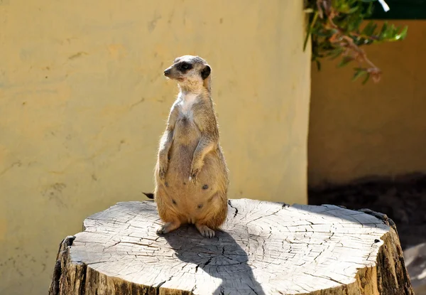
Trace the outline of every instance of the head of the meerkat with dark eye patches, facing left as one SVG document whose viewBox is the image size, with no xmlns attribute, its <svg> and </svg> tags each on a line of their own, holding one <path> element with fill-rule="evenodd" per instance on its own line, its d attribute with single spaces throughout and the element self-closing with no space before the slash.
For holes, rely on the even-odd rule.
<svg viewBox="0 0 426 295">
<path fill-rule="evenodd" d="M 164 70 L 164 75 L 176 80 L 182 90 L 195 92 L 200 91 L 203 87 L 210 90 L 211 72 L 212 69 L 202 58 L 183 55 L 176 58 L 173 65 Z"/>
</svg>

